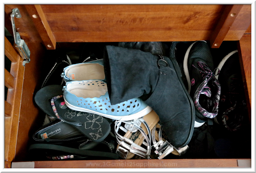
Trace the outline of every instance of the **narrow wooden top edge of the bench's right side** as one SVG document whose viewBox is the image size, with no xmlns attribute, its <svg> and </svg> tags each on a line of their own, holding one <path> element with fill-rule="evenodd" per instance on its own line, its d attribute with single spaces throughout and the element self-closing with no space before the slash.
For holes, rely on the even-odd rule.
<svg viewBox="0 0 256 173">
<path fill-rule="evenodd" d="M 251 121 L 251 100 L 252 100 L 252 76 L 251 76 L 251 34 L 245 34 L 238 42 L 238 54 L 244 82 L 246 103 L 248 107 L 249 120 Z M 250 105 L 249 105 L 250 103 Z"/>
</svg>

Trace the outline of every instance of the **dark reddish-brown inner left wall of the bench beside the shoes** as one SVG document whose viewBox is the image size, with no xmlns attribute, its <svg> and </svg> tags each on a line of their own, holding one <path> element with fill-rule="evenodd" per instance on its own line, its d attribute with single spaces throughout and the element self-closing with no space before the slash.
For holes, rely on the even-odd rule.
<svg viewBox="0 0 256 173">
<path fill-rule="evenodd" d="M 42 85 L 42 76 L 48 74 L 42 70 L 46 49 L 40 43 L 28 43 L 28 48 L 33 51 L 30 54 L 31 61 L 26 64 L 24 72 L 15 161 L 28 159 L 28 147 L 33 142 L 32 135 L 42 126 L 45 117 L 34 102 L 34 94 Z"/>
</svg>

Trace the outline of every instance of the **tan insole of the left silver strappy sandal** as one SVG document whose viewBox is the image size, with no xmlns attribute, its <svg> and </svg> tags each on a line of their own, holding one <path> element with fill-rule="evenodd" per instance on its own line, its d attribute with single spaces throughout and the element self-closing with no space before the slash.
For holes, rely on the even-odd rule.
<svg viewBox="0 0 256 173">
<path fill-rule="evenodd" d="M 156 112 L 154 110 L 152 110 L 150 113 L 148 113 L 147 115 L 145 115 L 143 117 L 143 119 L 146 121 L 146 123 L 148 123 L 148 126 L 150 128 L 150 133 L 152 131 L 152 129 L 154 128 L 154 126 L 158 123 L 159 121 L 159 117 L 156 114 Z M 142 128 L 142 130 L 146 133 L 146 135 L 148 135 L 148 131 L 146 129 L 146 126 L 141 123 L 140 127 Z M 142 142 L 144 141 L 144 136 L 142 135 L 142 133 L 140 133 L 140 131 L 136 131 L 134 133 L 131 133 L 131 131 L 127 131 L 124 135 L 124 137 L 131 139 L 134 143 L 138 144 L 138 145 L 142 145 Z M 117 146 L 119 147 L 119 145 Z M 126 159 L 131 159 L 135 154 L 129 152 Z"/>
</svg>

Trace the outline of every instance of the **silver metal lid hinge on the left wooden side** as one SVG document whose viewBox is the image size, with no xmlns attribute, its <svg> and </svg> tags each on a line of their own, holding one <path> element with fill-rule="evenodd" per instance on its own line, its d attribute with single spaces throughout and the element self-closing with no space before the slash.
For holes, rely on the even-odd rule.
<svg viewBox="0 0 256 173">
<path fill-rule="evenodd" d="M 23 66 L 25 66 L 26 63 L 30 62 L 30 50 L 28 49 L 28 46 L 26 45 L 24 40 L 20 38 L 20 33 L 16 32 L 14 16 L 16 18 L 21 18 L 20 10 L 18 8 L 12 9 L 12 14 L 11 14 L 12 31 L 14 35 L 14 42 L 16 44 L 15 47 L 20 53 L 20 56 L 24 59 Z"/>
</svg>

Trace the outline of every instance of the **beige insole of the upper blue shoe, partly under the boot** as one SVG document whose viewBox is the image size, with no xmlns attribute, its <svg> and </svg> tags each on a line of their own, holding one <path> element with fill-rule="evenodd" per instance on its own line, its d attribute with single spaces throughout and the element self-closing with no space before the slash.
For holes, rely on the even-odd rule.
<svg viewBox="0 0 256 173">
<path fill-rule="evenodd" d="M 104 66 L 100 64 L 78 64 L 66 70 L 66 76 L 71 80 L 104 80 Z"/>
</svg>

